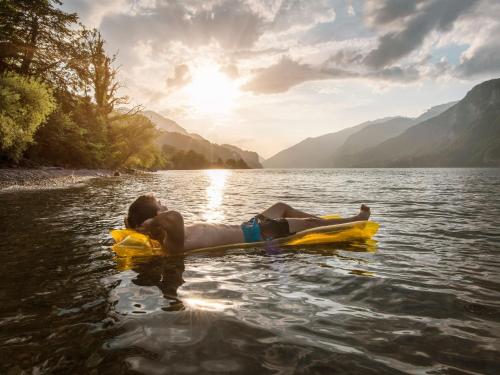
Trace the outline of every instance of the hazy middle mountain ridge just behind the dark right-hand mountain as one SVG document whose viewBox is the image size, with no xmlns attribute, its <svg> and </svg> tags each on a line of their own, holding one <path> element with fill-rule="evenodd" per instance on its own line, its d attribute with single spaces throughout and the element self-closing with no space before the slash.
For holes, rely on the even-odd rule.
<svg viewBox="0 0 500 375">
<path fill-rule="evenodd" d="M 428 109 L 417 118 L 393 117 L 385 121 L 365 126 L 349 136 L 344 144 L 334 152 L 330 160 L 334 167 L 348 167 L 357 162 L 359 153 L 375 147 L 388 139 L 397 137 L 410 127 L 439 115 L 457 102 L 441 104 Z"/>
</svg>

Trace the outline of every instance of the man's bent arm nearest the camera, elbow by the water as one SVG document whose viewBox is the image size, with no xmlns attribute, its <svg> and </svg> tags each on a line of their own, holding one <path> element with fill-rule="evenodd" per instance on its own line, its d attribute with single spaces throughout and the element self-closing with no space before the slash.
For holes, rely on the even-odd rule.
<svg viewBox="0 0 500 375">
<path fill-rule="evenodd" d="M 138 228 L 160 241 L 162 247 L 171 253 L 184 251 L 184 219 L 177 211 L 161 212 Z"/>
</svg>

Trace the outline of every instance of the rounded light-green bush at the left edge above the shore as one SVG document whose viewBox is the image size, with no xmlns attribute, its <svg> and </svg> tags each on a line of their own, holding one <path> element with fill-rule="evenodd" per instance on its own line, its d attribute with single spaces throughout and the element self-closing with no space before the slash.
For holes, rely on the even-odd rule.
<svg viewBox="0 0 500 375">
<path fill-rule="evenodd" d="M 51 89 L 15 73 L 0 76 L 0 152 L 19 160 L 33 135 L 55 109 Z"/>
</svg>

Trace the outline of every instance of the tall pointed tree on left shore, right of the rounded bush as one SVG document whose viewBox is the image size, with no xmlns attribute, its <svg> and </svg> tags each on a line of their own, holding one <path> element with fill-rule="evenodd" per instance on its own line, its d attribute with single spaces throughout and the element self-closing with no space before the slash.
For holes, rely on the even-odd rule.
<svg viewBox="0 0 500 375">
<path fill-rule="evenodd" d="M 125 133 L 140 142 L 147 131 L 140 124 L 135 130 L 143 134 L 131 135 L 129 126 L 141 120 L 114 111 L 114 106 L 124 104 L 127 98 L 117 96 L 119 84 L 114 57 L 106 55 L 99 32 L 82 29 L 77 41 L 69 62 L 74 79 L 56 92 L 58 110 L 40 129 L 37 145 L 29 150 L 29 155 L 44 163 L 88 168 L 129 163 L 138 145 L 131 144 L 128 155 L 129 152 L 121 148 L 130 143 L 124 142 Z M 117 122 L 116 126 L 113 122 Z M 124 160 L 119 160 L 122 158 Z"/>
</svg>

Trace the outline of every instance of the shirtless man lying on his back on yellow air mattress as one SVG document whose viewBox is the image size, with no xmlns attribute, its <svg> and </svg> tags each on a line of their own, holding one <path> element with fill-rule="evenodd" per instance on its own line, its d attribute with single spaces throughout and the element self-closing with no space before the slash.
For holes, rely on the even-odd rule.
<svg viewBox="0 0 500 375">
<path fill-rule="evenodd" d="M 278 202 L 250 220 L 238 224 L 184 224 L 182 215 L 170 211 L 153 194 L 141 195 L 128 208 L 125 226 L 157 240 L 169 253 L 260 242 L 326 225 L 366 221 L 370 208 L 361 205 L 357 215 L 348 218 L 324 219 Z"/>
</svg>

